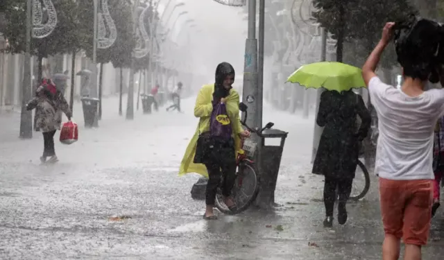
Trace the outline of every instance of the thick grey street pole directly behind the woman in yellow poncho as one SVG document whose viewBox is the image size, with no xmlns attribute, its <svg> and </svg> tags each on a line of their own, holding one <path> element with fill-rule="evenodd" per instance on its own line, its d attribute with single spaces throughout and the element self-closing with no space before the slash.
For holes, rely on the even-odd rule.
<svg viewBox="0 0 444 260">
<path fill-rule="evenodd" d="M 261 127 L 257 124 L 257 83 L 256 0 L 248 0 L 248 38 L 245 42 L 242 102 L 248 105 L 250 116 L 246 123 L 252 128 Z M 242 113 L 242 116 L 245 116 L 245 113 Z"/>
</svg>

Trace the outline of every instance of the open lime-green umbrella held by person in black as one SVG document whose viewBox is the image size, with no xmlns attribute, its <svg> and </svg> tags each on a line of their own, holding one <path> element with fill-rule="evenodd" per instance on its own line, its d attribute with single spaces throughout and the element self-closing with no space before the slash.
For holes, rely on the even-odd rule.
<svg viewBox="0 0 444 260">
<path fill-rule="evenodd" d="M 315 89 L 343 92 L 352 88 L 366 87 L 361 69 L 341 62 L 316 62 L 301 66 L 289 76 L 287 82 Z"/>
</svg>

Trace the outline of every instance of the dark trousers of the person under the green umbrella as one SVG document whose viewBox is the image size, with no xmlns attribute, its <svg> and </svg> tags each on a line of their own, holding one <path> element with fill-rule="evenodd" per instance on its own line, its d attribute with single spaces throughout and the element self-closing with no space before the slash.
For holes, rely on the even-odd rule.
<svg viewBox="0 0 444 260">
<path fill-rule="evenodd" d="M 352 192 L 352 184 L 352 178 L 338 179 L 335 177 L 325 176 L 324 205 L 326 216 L 333 216 L 334 202 L 336 201 L 336 196 L 339 195 L 340 207 L 343 207 L 347 204 L 348 198 L 350 198 L 350 193 Z M 336 194 L 336 190 L 338 191 L 338 194 Z"/>
</svg>

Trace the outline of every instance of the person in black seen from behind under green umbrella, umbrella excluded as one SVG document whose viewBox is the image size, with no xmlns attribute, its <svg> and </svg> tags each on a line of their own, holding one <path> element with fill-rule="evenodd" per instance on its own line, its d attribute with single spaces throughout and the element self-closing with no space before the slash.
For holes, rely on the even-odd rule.
<svg viewBox="0 0 444 260">
<path fill-rule="evenodd" d="M 357 116 L 361 125 L 357 130 Z M 364 100 L 352 92 L 326 91 L 321 95 L 317 121 L 325 127 L 313 164 L 313 173 L 325 176 L 325 227 L 333 225 L 334 202 L 339 195 L 338 223 L 347 222 L 347 201 L 359 157 L 359 143 L 367 136 L 371 117 Z M 336 193 L 337 191 L 337 193 Z"/>
</svg>

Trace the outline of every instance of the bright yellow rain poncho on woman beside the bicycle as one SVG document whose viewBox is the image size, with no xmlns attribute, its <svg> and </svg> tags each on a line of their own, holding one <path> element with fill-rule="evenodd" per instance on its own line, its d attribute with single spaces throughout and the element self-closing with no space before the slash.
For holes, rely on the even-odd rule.
<svg viewBox="0 0 444 260">
<path fill-rule="evenodd" d="M 194 154 L 196 153 L 197 139 L 199 133 L 207 132 L 210 130 L 210 116 L 213 110 L 212 99 L 214 92 L 214 84 L 205 85 L 200 89 L 198 97 L 196 99 L 196 105 L 194 106 L 194 116 L 199 118 L 199 123 L 197 125 L 194 137 L 188 144 L 187 150 L 185 150 L 185 155 L 180 164 L 179 175 L 184 175 L 186 173 L 199 173 L 205 177 L 208 177 L 207 168 L 203 164 L 195 164 Z M 235 89 L 230 89 L 230 94 L 225 98 L 228 116 L 230 116 L 233 138 L 234 138 L 234 150 L 239 150 L 240 137 L 239 133 L 244 131 L 242 128 L 240 117 L 239 117 L 239 94 Z"/>
</svg>

